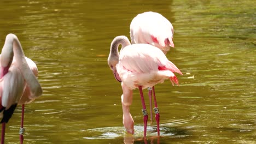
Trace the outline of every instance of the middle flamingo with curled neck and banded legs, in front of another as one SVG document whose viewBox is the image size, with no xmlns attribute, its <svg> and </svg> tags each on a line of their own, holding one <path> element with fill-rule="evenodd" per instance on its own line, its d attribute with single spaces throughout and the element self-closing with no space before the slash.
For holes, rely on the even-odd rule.
<svg viewBox="0 0 256 144">
<path fill-rule="evenodd" d="M 120 54 L 118 46 L 121 45 Z M 108 57 L 108 65 L 112 69 L 115 79 L 121 81 L 123 94 L 121 95 L 121 103 L 123 108 L 123 124 L 127 132 L 134 133 L 134 121 L 130 113 L 130 105 L 132 104 L 132 90 L 138 88 L 141 101 L 142 113 L 144 121 L 144 137 L 147 134 L 148 115 L 144 102 L 142 89 L 153 87 L 157 83 L 170 79 L 172 84 L 178 85 L 178 79 L 173 74 L 181 74 L 181 71 L 171 61 L 168 61 L 165 54 L 158 47 L 149 44 L 133 44 L 125 36 L 115 37 L 110 45 L 110 53 Z M 154 87 L 153 87 L 154 92 Z M 159 111 L 155 104 L 155 118 L 159 135 Z"/>
</svg>

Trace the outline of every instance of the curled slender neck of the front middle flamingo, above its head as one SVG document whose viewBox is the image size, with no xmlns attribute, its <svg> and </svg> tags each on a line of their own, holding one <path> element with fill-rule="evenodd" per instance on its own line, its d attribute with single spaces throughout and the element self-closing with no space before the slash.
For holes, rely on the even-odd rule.
<svg viewBox="0 0 256 144">
<path fill-rule="evenodd" d="M 119 45 L 122 45 L 121 50 L 123 50 L 125 46 L 131 45 L 131 43 L 129 39 L 124 35 L 115 37 L 110 46 L 109 57 L 117 56 L 119 58 L 119 52 L 118 52 Z"/>
</svg>

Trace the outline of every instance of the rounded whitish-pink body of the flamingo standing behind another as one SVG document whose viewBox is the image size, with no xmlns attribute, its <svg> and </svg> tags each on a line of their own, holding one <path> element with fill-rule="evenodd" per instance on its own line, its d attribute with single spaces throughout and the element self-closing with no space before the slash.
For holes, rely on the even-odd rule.
<svg viewBox="0 0 256 144">
<path fill-rule="evenodd" d="M 152 11 L 138 14 L 130 25 L 132 44 L 150 44 L 165 54 L 173 44 L 173 27 L 170 21 Z"/>
</svg>

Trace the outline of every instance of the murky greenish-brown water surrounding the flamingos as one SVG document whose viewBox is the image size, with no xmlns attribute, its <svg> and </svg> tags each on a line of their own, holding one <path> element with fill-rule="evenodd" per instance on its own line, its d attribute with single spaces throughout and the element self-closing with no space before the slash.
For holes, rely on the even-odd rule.
<svg viewBox="0 0 256 144">
<path fill-rule="evenodd" d="M 120 83 L 107 65 L 112 39 L 129 37 L 132 18 L 144 11 L 173 23 L 176 47 L 167 57 L 184 73 L 180 86 L 155 87 L 161 137 L 153 121 L 148 143 L 256 142 L 255 2 L 35 0 L 0 7 L 0 45 L 6 34 L 18 35 L 44 89 L 26 105 L 25 143 L 144 143 L 139 93 L 129 135 Z M 18 107 L 6 143 L 19 143 L 20 115 Z"/>
</svg>

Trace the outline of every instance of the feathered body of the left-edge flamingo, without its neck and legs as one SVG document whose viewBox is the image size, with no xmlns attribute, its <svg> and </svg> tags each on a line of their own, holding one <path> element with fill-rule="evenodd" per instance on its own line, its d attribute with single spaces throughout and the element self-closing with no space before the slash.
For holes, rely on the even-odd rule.
<svg viewBox="0 0 256 144">
<path fill-rule="evenodd" d="M 0 55 L 1 58 L 1 55 Z M 37 76 L 37 65 L 30 58 L 25 57 L 28 67 L 32 70 L 33 74 Z M 1 64 L 0 64 L 1 67 Z M 34 98 L 31 98 L 30 88 L 27 86 L 24 77 L 16 63 L 15 58 L 10 65 L 8 73 L 0 79 L 0 97 L 1 104 L 5 110 L 0 113 L 0 119 L 3 118 L 2 122 L 7 123 L 11 117 L 9 108 L 16 106 L 17 104 L 31 103 Z M 8 111 L 9 110 L 9 111 Z M 8 112 L 5 112 L 8 111 Z M 4 116 L 5 113 L 7 116 Z M 13 112 L 11 112 L 12 114 Z M 1 122 L 1 123 L 2 123 Z"/>
</svg>

